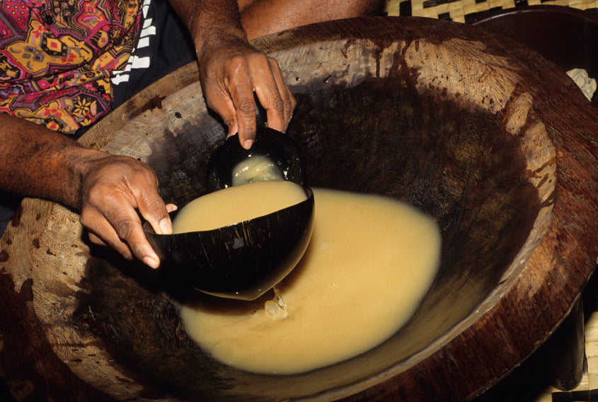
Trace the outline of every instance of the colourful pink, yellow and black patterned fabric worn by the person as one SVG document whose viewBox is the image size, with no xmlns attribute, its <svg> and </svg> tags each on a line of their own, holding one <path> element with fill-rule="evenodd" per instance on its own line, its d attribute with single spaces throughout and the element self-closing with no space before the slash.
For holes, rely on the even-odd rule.
<svg viewBox="0 0 598 402">
<path fill-rule="evenodd" d="M 0 112 L 74 133 L 105 115 L 142 0 L 0 0 Z"/>
</svg>

